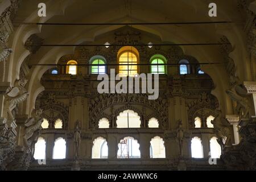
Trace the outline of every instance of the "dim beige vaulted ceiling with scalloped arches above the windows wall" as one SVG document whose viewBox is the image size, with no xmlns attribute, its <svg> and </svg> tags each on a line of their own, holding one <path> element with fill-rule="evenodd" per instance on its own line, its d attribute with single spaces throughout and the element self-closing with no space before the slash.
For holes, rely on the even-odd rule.
<svg viewBox="0 0 256 182">
<path fill-rule="evenodd" d="M 49 26 L 36 24 L 20 24 L 21 22 L 41 23 L 152 23 L 152 22 L 213 22 L 233 21 L 225 24 L 187 24 L 187 25 L 134 25 L 134 28 L 155 34 L 162 42 L 172 43 L 218 43 L 223 36 L 232 44 L 230 57 L 237 67 L 237 75 L 241 80 L 251 80 L 250 60 L 247 51 L 247 38 L 244 31 L 246 10 L 241 5 L 245 1 L 217 0 L 217 17 L 209 17 L 209 3 L 205 0 L 49 0 L 47 16 L 38 16 L 38 4 L 42 0 L 22 1 L 14 19 L 15 30 L 9 44 L 14 53 L 10 57 L 8 81 L 14 84 L 19 79 L 19 70 L 31 56 L 32 63 L 55 64 L 61 56 L 72 54 L 74 47 L 40 47 L 31 55 L 24 47 L 27 39 L 36 34 L 44 44 L 79 44 L 91 41 L 96 36 L 116 30 L 121 25 L 106 26 Z M 251 11 L 255 13 L 255 1 L 251 3 Z M 104 42 L 102 42 L 104 44 Z M 220 63 L 225 57 L 219 46 L 181 46 L 184 53 L 195 57 L 200 63 Z M 50 67 L 32 67 L 28 91 L 32 96 L 28 99 L 27 112 L 42 92 L 40 78 Z M 228 88 L 228 75 L 224 65 L 205 65 L 207 72 L 216 85 L 213 92 L 224 93 Z M 226 98 L 222 99 L 223 101 Z M 29 113 L 28 113 L 29 114 Z"/>
</svg>

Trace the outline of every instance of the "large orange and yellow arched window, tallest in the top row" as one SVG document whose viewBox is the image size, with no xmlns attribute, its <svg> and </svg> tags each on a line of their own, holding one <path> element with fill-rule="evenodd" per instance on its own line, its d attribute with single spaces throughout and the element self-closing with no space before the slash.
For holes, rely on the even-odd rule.
<svg viewBox="0 0 256 182">
<path fill-rule="evenodd" d="M 119 76 L 135 76 L 138 73 L 139 52 L 135 47 L 126 46 L 118 52 Z M 122 65 L 124 64 L 124 65 Z M 135 65 L 134 65 L 135 64 Z"/>
</svg>

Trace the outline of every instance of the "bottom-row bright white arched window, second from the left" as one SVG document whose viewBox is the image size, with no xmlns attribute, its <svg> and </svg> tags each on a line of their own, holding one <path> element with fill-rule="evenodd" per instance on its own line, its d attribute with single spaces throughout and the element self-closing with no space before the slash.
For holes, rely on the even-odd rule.
<svg viewBox="0 0 256 182">
<path fill-rule="evenodd" d="M 65 159 L 66 158 L 66 141 L 63 138 L 57 138 L 53 147 L 53 159 Z"/>
</svg>

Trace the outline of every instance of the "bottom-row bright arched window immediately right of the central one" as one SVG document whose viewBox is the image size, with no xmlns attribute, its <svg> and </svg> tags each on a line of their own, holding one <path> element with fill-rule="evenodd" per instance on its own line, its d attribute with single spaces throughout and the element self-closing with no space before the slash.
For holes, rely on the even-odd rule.
<svg viewBox="0 0 256 182">
<path fill-rule="evenodd" d="M 154 137 L 150 141 L 151 154 L 150 158 L 166 158 L 166 147 L 164 141 L 160 137 Z"/>
</svg>

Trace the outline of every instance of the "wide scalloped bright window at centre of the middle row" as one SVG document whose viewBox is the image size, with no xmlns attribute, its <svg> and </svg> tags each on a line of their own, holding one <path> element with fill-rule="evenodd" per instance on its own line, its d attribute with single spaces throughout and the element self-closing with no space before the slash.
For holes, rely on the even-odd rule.
<svg viewBox="0 0 256 182">
<path fill-rule="evenodd" d="M 141 117 L 133 110 L 125 110 L 117 117 L 117 128 L 141 127 Z"/>
</svg>

